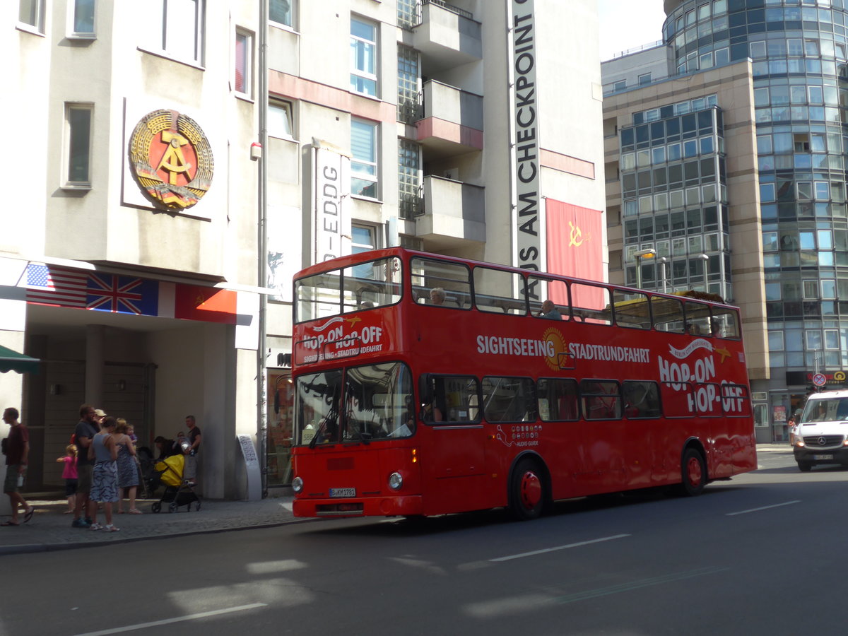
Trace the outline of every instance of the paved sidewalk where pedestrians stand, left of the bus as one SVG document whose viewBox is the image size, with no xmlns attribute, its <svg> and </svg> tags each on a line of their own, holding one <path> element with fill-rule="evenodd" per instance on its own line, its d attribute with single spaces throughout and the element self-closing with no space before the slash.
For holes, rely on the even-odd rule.
<svg viewBox="0 0 848 636">
<path fill-rule="evenodd" d="M 182 506 L 178 512 L 171 513 L 165 504 L 158 514 L 151 512 L 150 507 L 159 499 L 139 499 L 137 507 L 142 515 L 113 516 L 114 525 L 120 527 L 117 533 L 70 527 L 74 516 L 63 514 L 68 507 L 64 500 L 28 500 L 36 508 L 31 522 L 23 523 L 19 513 L 20 526 L 0 527 L 0 556 L 309 521 L 293 517 L 292 499 L 291 496 L 261 501 L 204 499 L 200 510 L 195 510 L 192 504 L 191 512 Z M 8 518 L 3 516 L 3 521 Z M 103 523 L 103 510 L 98 512 L 98 522 Z"/>
</svg>

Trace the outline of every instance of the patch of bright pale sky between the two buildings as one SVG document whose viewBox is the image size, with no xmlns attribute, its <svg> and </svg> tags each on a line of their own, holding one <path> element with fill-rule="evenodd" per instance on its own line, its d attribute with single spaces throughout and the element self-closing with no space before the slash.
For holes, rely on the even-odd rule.
<svg viewBox="0 0 848 636">
<path fill-rule="evenodd" d="M 662 0 L 598 0 L 600 59 L 662 39 Z"/>
</svg>

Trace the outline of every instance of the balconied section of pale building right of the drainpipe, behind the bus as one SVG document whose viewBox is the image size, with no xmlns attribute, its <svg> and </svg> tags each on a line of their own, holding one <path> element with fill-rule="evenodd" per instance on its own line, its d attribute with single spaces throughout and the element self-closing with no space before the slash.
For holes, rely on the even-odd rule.
<svg viewBox="0 0 848 636">
<path fill-rule="evenodd" d="M 554 271 L 573 252 L 554 204 L 594 223 L 605 276 L 594 2 L 329 4 L 270 5 L 272 352 L 291 349 L 298 268 L 403 245 Z M 285 484 L 293 396 L 274 360 L 268 483 Z"/>
</svg>

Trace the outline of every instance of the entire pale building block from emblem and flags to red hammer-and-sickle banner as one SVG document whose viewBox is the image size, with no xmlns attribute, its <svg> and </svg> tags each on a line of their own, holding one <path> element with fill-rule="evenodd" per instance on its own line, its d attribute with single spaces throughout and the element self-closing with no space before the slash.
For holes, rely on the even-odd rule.
<svg viewBox="0 0 848 636">
<path fill-rule="evenodd" d="M 590 243 L 603 280 L 594 4 L 8 3 L 37 152 L 2 217 L 0 344 L 42 374 L 2 394 L 31 488 L 60 483 L 82 402 L 151 446 L 197 416 L 207 497 L 247 492 L 239 436 L 287 485 L 305 265 L 400 244 L 562 271 Z"/>
</svg>

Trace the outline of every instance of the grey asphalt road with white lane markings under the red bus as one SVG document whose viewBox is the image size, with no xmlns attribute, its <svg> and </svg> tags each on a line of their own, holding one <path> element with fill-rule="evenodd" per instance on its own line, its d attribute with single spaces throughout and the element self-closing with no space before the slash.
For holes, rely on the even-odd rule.
<svg viewBox="0 0 848 636">
<path fill-rule="evenodd" d="M 0 558 L 0 634 L 844 634 L 848 470 Z"/>
</svg>

